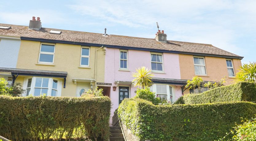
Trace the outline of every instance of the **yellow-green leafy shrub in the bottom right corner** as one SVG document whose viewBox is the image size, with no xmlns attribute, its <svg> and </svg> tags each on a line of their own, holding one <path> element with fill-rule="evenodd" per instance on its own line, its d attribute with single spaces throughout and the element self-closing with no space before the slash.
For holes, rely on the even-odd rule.
<svg viewBox="0 0 256 141">
<path fill-rule="evenodd" d="M 233 133 L 233 140 L 256 140 L 256 119 L 251 121 L 243 120 L 243 124 L 237 124 L 235 127 L 235 131 L 231 131 Z"/>
</svg>

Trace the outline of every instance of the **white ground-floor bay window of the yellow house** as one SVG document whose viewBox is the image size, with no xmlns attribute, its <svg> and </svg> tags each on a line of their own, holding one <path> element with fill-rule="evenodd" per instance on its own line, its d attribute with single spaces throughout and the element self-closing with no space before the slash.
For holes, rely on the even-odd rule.
<svg viewBox="0 0 256 141">
<path fill-rule="evenodd" d="M 62 80 L 49 77 L 30 77 L 24 81 L 24 96 L 61 96 Z"/>
</svg>

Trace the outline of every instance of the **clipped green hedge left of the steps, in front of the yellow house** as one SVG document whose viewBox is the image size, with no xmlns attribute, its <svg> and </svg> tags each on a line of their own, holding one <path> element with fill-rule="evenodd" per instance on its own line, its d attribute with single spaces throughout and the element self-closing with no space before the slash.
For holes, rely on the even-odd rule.
<svg viewBox="0 0 256 141">
<path fill-rule="evenodd" d="M 10 140 L 109 139 L 109 97 L 0 96 L 0 135 Z"/>
</svg>

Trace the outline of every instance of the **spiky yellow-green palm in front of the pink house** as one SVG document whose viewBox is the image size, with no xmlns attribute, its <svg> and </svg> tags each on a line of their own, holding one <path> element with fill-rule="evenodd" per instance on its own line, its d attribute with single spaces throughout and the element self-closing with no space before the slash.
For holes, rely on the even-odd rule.
<svg viewBox="0 0 256 141">
<path fill-rule="evenodd" d="M 151 70 L 149 70 L 146 67 L 141 67 L 136 69 L 137 72 L 133 72 L 132 76 L 135 77 L 132 82 L 134 83 L 134 86 L 139 86 L 141 88 L 145 88 L 148 86 L 151 86 L 151 79 L 152 76 L 154 76 L 153 74 L 151 74 Z"/>
</svg>

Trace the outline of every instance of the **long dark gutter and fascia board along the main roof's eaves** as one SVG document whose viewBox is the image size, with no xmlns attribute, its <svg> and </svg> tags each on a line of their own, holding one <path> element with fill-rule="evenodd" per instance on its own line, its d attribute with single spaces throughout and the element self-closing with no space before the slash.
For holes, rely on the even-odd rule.
<svg viewBox="0 0 256 141">
<path fill-rule="evenodd" d="M 211 57 L 223 57 L 227 59 L 243 59 L 242 56 L 229 56 L 229 55 L 215 55 L 215 54 L 208 54 L 208 53 L 193 53 L 193 52 L 186 52 L 186 51 L 170 51 L 170 50 L 161 50 L 161 49 L 153 49 L 153 48 L 139 48 L 139 47 L 128 47 L 128 46 L 118 46 L 118 45 L 107 45 L 107 44 L 94 44 L 94 43 L 85 43 L 85 42 L 72 42 L 72 41 L 64 41 L 64 40 L 52 40 L 52 39 L 41 39 L 41 38 L 30 38 L 30 37 L 21 37 L 21 40 L 29 40 L 29 41 L 37 41 L 37 42 L 44 42 L 44 43 L 59 43 L 59 44 L 74 44 L 74 45 L 81 45 L 87 47 L 107 47 L 107 48 L 118 48 L 123 50 L 139 50 L 139 51 L 150 51 L 156 53 L 175 53 L 175 54 L 188 54 L 188 55 L 195 55 L 195 56 L 211 56 Z"/>
</svg>

